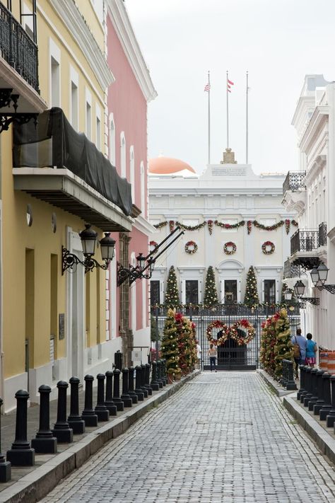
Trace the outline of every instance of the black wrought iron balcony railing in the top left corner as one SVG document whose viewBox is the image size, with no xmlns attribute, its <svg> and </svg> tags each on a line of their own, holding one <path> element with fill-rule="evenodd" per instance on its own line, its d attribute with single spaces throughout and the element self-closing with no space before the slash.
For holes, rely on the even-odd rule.
<svg viewBox="0 0 335 503">
<path fill-rule="evenodd" d="M 0 2 L 0 57 L 39 92 L 37 45 Z"/>
</svg>

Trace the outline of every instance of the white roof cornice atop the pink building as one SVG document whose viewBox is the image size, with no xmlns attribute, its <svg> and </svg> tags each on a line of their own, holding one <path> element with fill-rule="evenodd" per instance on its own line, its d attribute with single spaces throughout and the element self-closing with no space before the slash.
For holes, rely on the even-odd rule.
<svg viewBox="0 0 335 503">
<path fill-rule="evenodd" d="M 157 92 L 153 87 L 148 67 L 129 21 L 127 8 L 122 0 L 107 0 L 107 8 L 114 30 L 123 47 L 124 54 L 126 54 L 136 80 L 141 87 L 143 96 L 149 102 L 155 99 Z"/>
</svg>

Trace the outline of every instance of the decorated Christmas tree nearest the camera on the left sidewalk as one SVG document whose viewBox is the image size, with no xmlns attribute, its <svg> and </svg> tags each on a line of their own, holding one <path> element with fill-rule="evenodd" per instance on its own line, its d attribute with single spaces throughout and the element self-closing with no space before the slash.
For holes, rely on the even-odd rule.
<svg viewBox="0 0 335 503">
<path fill-rule="evenodd" d="M 167 374 L 180 374 L 179 350 L 177 340 L 177 323 L 175 320 L 175 311 L 169 309 L 165 319 L 163 330 L 162 345 L 160 351 L 162 357 L 166 359 Z"/>
</svg>

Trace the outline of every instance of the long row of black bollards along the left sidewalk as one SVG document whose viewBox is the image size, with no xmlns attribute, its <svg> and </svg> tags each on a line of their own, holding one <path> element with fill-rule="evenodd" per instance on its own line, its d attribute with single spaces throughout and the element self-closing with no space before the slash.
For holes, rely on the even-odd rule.
<svg viewBox="0 0 335 503">
<path fill-rule="evenodd" d="M 97 403 L 93 408 L 93 376 L 85 376 L 85 403 L 84 409 L 79 413 L 79 384 L 78 377 L 69 380 L 70 414 L 66 418 L 66 394 L 69 384 L 59 381 L 57 420 L 54 428 L 49 424 L 49 395 L 50 386 L 43 384 L 38 388 L 40 393 L 40 423 L 34 439 L 27 439 L 28 424 L 28 391 L 20 390 L 16 393 L 16 433 L 11 449 L 7 451 L 6 458 L 1 453 L 0 436 L 0 482 L 11 480 L 11 466 L 34 466 L 35 453 L 57 453 L 57 443 L 71 443 L 74 434 L 83 434 L 86 427 L 97 427 L 98 422 L 107 422 L 110 416 L 116 416 L 117 411 L 124 407 L 143 401 L 152 395 L 153 390 L 158 391 L 167 383 L 165 360 L 157 360 L 152 364 L 150 381 L 150 364 L 141 364 L 129 369 L 114 369 L 105 374 L 98 374 Z M 120 396 L 120 375 L 122 374 L 122 395 Z M 135 389 L 134 389 L 135 374 Z M 105 385 L 106 381 L 106 385 Z M 0 409 L 3 400 L 0 398 Z"/>
</svg>

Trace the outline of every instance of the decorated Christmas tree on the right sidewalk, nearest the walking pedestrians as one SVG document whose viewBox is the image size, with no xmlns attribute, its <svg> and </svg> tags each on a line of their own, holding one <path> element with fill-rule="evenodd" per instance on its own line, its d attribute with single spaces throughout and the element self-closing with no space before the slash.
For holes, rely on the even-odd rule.
<svg viewBox="0 0 335 503">
<path fill-rule="evenodd" d="M 276 345 L 274 345 L 274 375 L 278 379 L 283 374 L 282 360 L 293 360 L 293 345 L 290 340 L 290 322 L 286 309 L 281 309 L 272 316 Z"/>
</svg>

